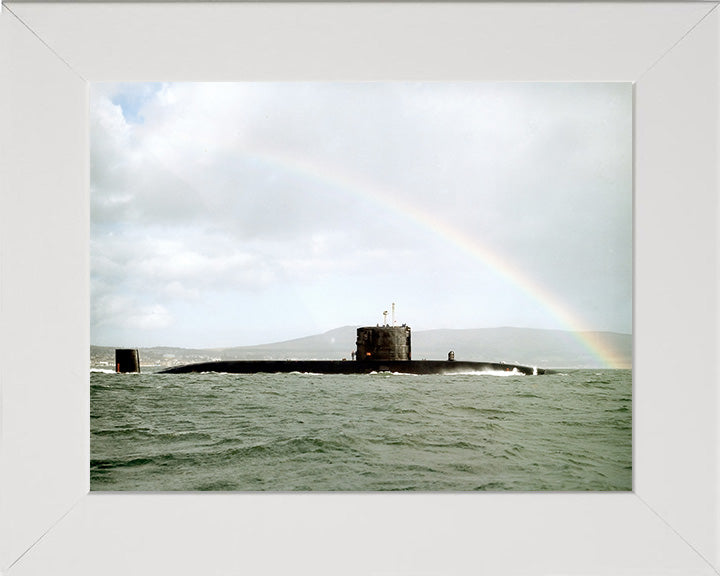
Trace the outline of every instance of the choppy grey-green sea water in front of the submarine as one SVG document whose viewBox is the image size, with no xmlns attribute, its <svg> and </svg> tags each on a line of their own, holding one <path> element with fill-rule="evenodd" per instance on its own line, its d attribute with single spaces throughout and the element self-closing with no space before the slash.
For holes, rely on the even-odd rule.
<svg viewBox="0 0 720 576">
<path fill-rule="evenodd" d="M 632 372 L 90 374 L 93 491 L 632 490 Z"/>
</svg>

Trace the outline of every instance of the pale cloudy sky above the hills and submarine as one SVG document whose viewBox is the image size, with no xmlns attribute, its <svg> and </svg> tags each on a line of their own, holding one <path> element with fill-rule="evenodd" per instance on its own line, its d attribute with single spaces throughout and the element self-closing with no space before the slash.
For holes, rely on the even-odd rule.
<svg viewBox="0 0 720 576">
<path fill-rule="evenodd" d="M 632 330 L 625 83 L 98 83 L 91 342 Z M 354 343 L 349 345 L 352 347 Z"/>
</svg>

